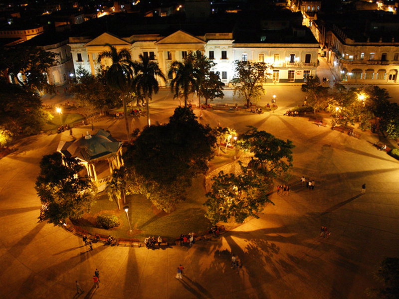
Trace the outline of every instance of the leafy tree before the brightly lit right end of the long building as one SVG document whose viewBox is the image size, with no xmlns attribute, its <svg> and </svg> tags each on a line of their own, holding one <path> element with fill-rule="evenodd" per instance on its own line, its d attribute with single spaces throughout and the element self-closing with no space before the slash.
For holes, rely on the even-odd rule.
<svg viewBox="0 0 399 299">
<path fill-rule="evenodd" d="M 270 76 L 271 64 L 264 62 L 235 61 L 235 77 L 231 80 L 234 86 L 234 96 L 244 98 L 245 105 L 257 102 L 265 93 L 263 83 Z"/>
</svg>

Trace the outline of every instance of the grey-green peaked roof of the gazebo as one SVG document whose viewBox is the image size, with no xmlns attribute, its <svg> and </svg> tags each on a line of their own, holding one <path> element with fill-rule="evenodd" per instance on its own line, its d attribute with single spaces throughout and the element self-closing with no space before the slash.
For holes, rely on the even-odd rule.
<svg viewBox="0 0 399 299">
<path fill-rule="evenodd" d="M 95 135 L 88 132 L 85 137 L 63 142 L 58 145 L 57 151 L 67 157 L 76 157 L 86 162 L 99 158 L 106 158 L 118 152 L 122 143 L 111 136 L 111 133 L 99 130 Z"/>
</svg>

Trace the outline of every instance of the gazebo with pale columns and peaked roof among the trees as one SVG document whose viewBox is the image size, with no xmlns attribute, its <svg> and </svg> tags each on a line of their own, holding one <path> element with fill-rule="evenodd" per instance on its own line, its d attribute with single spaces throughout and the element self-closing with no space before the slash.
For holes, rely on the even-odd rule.
<svg viewBox="0 0 399 299">
<path fill-rule="evenodd" d="M 61 141 L 57 151 L 63 156 L 77 158 L 86 167 L 87 175 L 97 186 L 98 192 L 103 191 L 107 181 L 111 180 L 113 170 L 124 164 L 122 143 L 104 130 L 99 130 L 95 135 L 86 132 L 86 136 L 73 141 Z"/>
</svg>

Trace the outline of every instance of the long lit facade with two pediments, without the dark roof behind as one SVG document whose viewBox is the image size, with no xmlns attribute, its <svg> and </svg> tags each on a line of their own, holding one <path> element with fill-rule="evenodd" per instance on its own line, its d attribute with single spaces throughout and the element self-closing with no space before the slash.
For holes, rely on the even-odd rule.
<svg viewBox="0 0 399 299">
<path fill-rule="evenodd" d="M 98 55 L 108 50 L 105 44 L 111 44 L 118 50 L 127 48 L 133 60 L 139 55 L 157 61 L 164 74 L 168 73 L 171 63 L 183 60 L 190 51 L 200 50 L 216 63 L 215 70 L 220 73 L 221 80 L 228 84 L 234 77 L 234 61 L 263 61 L 273 65 L 273 74 L 269 82 L 304 82 L 304 78 L 316 75 L 319 44 L 301 28 L 295 31 L 295 39 L 278 41 L 267 35 L 257 42 L 233 39 L 232 32 L 205 33 L 196 36 L 183 30 L 172 34 L 133 34 L 120 37 L 104 32 L 97 37 L 72 36 L 69 38 L 75 70 L 79 67 L 96 74 L 101 67 L 97 62 Z M 310 33 L 310 31 L 309 31 Z M 301 38 L 303 34 L 303 41 Z M 107 64 L 107 62 L 103 62 Z M 78 75 L 78 74 L 77 74 Z M 164 85 L 164 82 L 160 82 Z M 168 84 L 168 82 L 166 83 Z"/>
</svg>

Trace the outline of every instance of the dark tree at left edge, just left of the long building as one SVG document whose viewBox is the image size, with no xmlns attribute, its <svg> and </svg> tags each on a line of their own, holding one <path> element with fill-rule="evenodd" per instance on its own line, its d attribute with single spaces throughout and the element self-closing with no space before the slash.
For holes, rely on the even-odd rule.
<svg viewBox="0 0 399 299">
<path fill-rule="evenodd" d="M 5 47 L 0 51 L 0 74 L 6 82 L 10 76 L 12 83 L 31 91 L 53 93 L 54 86 L 47 83 L 47 70 L 57 59 L 58 54 L 36 47 Z"/>
</svg>

